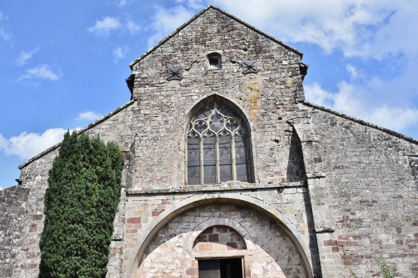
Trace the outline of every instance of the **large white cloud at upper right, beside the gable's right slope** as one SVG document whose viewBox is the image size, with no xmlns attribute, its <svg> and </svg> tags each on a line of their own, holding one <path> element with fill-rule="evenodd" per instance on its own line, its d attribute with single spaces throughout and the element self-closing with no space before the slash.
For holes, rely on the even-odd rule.
<svg viewBox="0 0 418 278">
<path fill-rule="evenodd" d="M 279 40 L 317 44 L 327 53 L 341 49 L 345 56 L 381 58 L 418 51 L 415 0 L 212 2 Z"/>
</svg>

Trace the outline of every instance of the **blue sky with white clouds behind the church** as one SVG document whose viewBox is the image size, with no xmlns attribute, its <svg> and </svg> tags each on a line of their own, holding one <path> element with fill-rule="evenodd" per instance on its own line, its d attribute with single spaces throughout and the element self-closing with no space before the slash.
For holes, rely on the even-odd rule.
<svg viewBox="0 0 418 278">
<path fill-rule="evenodd" d="M 304 52 L 307 100 L 418 139 L 418 1 L 0 2 L 0 188 L 130 100 L 129 63 L 210 3 Z"/>
</svg>

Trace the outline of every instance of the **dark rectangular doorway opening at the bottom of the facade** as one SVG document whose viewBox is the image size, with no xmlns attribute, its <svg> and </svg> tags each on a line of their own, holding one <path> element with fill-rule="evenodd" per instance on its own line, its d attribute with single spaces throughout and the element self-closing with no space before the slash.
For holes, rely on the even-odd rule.
<svg viewBox="0 0 418 278">
<path fill-rule="evenodd" d="M 242 278 L 242 259 L 199 260 L 199 278 Z"/>
</svg>

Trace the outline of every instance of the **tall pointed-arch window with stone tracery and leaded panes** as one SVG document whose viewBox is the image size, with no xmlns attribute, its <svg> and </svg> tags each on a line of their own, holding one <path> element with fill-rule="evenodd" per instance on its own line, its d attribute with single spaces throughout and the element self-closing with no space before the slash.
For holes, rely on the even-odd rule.
<svg viewBox="0 0 418 278">
<path fill-rule="evenodd" d="M 212 102 L 189 122 L 187 184 L 251 181 L 249 132 L 231 108 Z"/>
</svg>

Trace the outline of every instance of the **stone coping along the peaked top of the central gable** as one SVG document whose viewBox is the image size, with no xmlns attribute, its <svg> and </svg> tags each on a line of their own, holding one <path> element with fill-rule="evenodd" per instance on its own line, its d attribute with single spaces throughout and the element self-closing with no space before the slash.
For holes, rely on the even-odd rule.
<svg viewBox="0 0 418 278">
<path fill-rule="evenodd" d="M 157 49 L 158 47 L 160 47 L 160 45 L 164 44 L 164 42 L 167 42 L 167 40 L 169 40 L 171 37 L 173 37 L 174 35 L 176 35 L 176 33 L 180 32 L 187 25 L 189 25 L 190 23 L 192 23 L 195 19 L 197 19 L 198 17 L 200 17 L 201 15 L 203 15 L 203 13 L 205 13 L 210 8 L 213 8 L 213 9 L 219 11 L 220 13 L 223 13 L 224 15 L 226 15 L 228 17 L 231 17 L 232 19 L 234 19 L 235 21 L 239 22 L 240 24 L 247 26 L 248 28 L 252 29 L 253 31 L 256 31 L 257 33 L 260 33 L 261 35 L 264 35 L 267 38 L 270 38 L 270 40 L 273 40 L 274 42 L 277 42 L 278 44 L 281 44 L 281 46 L 286 47 L 287 49 L 290 49 L 291 51 L 294 51 L 296 54 L 299 54 L 300 55 L 300 58 L 302 58 L 302 56 L 303 56 L 303 52 L 302 51 L 299 51 L 299 50 L 295 49 L 294 47 L 291 47 L 290 45 L 282 42 L 281 40 L 277 40 L 277 38 L 274 38 L 272 35 L 268 35 L 268 33 L 265 33 L 263 31 L 261 31 L 260 29 L 254 27 L 254 26 L 252 26 L 250 24 L 248 24 L 247 22 L 243 22 L 238 17 L 235 17 L 235 16 L 231 15 L 230 13 L 227 13 L 226 11 L 222 10 L 221 8 L 218 8 L 217 6 L 213 6 L 212 4 L 210 4 L 209 6 L 207 6 L 203 10 L 201 10 L 199 13 L 196 13 L 196 15 L 194 15 L 194 17 L 192 17 L 187 22 L 185 22 L 184 24 L 182 24 L 180 27 L 178 27 L 171 34 L 167 35 L 167 37 L 163 38 L 160 42 L 158 42 L 157 44 L 155 44 L 154 47 L 148 49 L 148 51 L 146 51 L 144 54 L 142 54 L 141 56 L 139 56 L 139 58 L 136 58 L 135 60 L 133 60 L 129 64 L 131 70 L 132 70 L 132 66 L 134 64 L 136 64 L 137 62 L 139 62 L 140 60 L 144 59 L 146 56 L 148 56 L 149 54 L 151 54 L 155 49 Z"/>
</svg>

